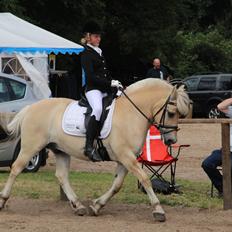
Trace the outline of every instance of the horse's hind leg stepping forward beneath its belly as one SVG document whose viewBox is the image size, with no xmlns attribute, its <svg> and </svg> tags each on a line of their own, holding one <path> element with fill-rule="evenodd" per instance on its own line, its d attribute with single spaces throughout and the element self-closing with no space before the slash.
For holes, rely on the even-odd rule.
<svg viewBox="0 0 232 232">
<path fill-rule="evenodd" d="M 70 156 L 65 153 L 56 153 L 56 177 L 64 190 L 68 200 L 70 201 L 71 207 L 77 215 L 87 214 L 87 209 L 78 200 L 74 193 L 68 179 L 68 172 L 70 167 Z"/>
</svg>

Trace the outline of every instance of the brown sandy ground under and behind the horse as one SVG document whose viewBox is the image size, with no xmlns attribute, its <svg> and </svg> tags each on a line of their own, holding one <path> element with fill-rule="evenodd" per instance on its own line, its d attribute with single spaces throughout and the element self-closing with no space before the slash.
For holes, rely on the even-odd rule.
<svg viewBox="0 0 232 232">
<path fill-rule="evenodd" d="M 221 146 L 220 125 L 180 125 L 179 143 L 191 144 L 178 161 L 177 177 L 190 180 L 207 180 L 201 162 L 211 150 Z M 72 160 L 71 168 L 79 171 L 112 172 L 115 164 L 90 163 Z M 49 158 L 45 169 L 54 169 Z M 109 203 L 98 217 L 78 217 L 67 202 L 11 198 L 8 207 L 0 214 L 0 232 L 69 232 L 69 231 L 172 231 L 209 232 L 232 231 L 232 211 L 202 210 L 164 206 L 165 223 L 154 222 L 149 205 Z"/>
</svg>

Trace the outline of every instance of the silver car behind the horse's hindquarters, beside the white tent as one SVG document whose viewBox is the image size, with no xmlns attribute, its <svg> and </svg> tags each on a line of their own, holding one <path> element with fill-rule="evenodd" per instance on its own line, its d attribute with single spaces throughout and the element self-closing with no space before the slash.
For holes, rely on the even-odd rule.
<svg viewBox="0 0 232 232">
<path fill-rule="evenodd" d="M 34 96 L 31 84 L 14 75 L 0 73 L 0 112 L 18 112 L 24 106 L 38 99 Z M 8 141 L 7 135 L 0 129 L 0 167 L 11 166 L 20 151 L 20 137 Z M 47 153 L 43 149 L 36 154 L 25 168 L 26 172 L 36 172 L 46 164 Z"/>
</svg>

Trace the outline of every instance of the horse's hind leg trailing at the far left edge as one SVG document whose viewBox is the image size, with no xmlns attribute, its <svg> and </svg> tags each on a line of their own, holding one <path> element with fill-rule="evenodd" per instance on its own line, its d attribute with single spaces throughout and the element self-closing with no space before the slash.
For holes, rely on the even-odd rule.
<svg viewBox="0 0 232 232">
<path fill-rule="evenodd" d="M 2 208 L 4 208 L 6 201 L 10 197 L 11 189 L 12 189 L 12 186 L 15 182 L 16 177 L 23 171 L 23 169 L 26 167 L 26 165 L 28 164 L 28 162 L 31 160 L 31 158 L 33 157 L 33 155 L 36 152 L 37 151 L 25 152 L 21 149 L 21 151 L 18 155 L 18 158 L 16 159 L 16 161 L 12 165 L 10 175 L 7 179 L 7 182 L 6 182 L 2 192 L 0 193 L 0 210 Z"/>
</svg>

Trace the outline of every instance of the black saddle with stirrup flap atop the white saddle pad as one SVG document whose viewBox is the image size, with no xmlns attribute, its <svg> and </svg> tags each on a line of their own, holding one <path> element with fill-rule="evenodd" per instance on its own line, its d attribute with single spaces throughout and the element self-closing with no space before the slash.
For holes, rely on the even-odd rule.
<svg viewBox="0 0 232 232">
<path fill-rule="evenodd" d="M 100 118 L 100 127 L 99 127 L 99 133 L 104 125 L 104 122 L 108 116 L 108 113 L 109 113 L 109 107 L 110 105 L 112 104 L 113 100 L 117 97 L 116 93 L 112 93 L 112 94 L 109 94 L 107 95 L 106 97 L 104 97 L 102 99 L 102 115 L 101 115 L 101 118 Z M 89 123 L 89 120 L 90 120 L 90 117 L 91 117 L 91 113 L 92 113 L 92 108 L 91 106 L 89 105 L 89 102 L 86 98 L 85 95 L 81 95 L 81 99 L 78 101 L 78 104 L 82 107 L 86 107 L 87 110 L 86 110 L 86 113 L 84 114 L 85 115 L 85 128 L 87 128 L 88 126 L 88 123 Z M 102 139 L 101 138 L 97 138 L 97 144 L 96 144 L 96 149 L 98 151 L 98 153 L 100 154 L 101 158 L 103 161 L 110 161 L 110 157 L 109 157 L 109 154 L 105 148 L 105 146 L 103 145 L 103 142 L 102 142 Z"/>
</svg>

